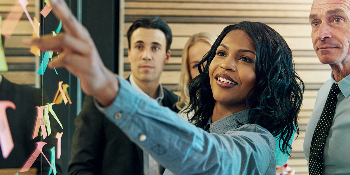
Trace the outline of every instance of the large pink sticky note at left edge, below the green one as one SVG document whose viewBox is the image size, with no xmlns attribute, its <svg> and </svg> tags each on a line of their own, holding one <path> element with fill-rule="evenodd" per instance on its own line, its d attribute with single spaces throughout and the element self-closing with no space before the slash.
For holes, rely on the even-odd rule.
<svg viewBox="0 0 350 175">
<path fill-rule="evenodd" d="M 7 158 L 11 153 L 14 144 L 6 116 L 6 108 L 16 109 L 11 101 L 0 101 L 0 146 L 3 158 Z"/>
</svg>

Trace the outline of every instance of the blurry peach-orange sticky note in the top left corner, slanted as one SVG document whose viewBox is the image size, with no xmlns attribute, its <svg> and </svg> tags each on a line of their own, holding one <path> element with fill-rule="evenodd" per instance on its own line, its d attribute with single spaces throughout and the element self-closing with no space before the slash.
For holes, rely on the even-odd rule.
<svg viewBox="0 0 350 175">
<path fill-rule="evenodd" d="M 24 10 L 21 7 L 20 2 L 17 1 L 16 4 L 12 7 L 11 11 L 7 14 L 6 19 L 2 21 L 1 35 L 5 36 L 6 38 L 9 38 L 12 35 L 23 15 L 23 12 Z"/>
</svg>

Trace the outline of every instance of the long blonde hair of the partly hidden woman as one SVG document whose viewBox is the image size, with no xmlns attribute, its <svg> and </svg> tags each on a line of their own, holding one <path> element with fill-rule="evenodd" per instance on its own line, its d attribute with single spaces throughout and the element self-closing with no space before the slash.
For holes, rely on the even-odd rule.
<svg viewBox="0 0 350 175">
<path fill-rule="evenodd" d="M 178 109 L 181 110 L 184 106 L 188 104 L 188 101 L 189 101 L 188 83 L 193 78 L 189 73 L 188 49 L 198 42 L 205 42 L 210 44 L 210 46 L 212 46 L 216 38 L 217 36 L 207 32 L 194 34 L 188 39 L 185 47 L 183 48 L 182 61 L 181 61 L 181 77 L 180 77 L 180 84 L 179 84 L 179 90 L 181 94 L 179 97 L 180 98 L 179 101 L 176 102 L 176 107 Z"/>
</svg>

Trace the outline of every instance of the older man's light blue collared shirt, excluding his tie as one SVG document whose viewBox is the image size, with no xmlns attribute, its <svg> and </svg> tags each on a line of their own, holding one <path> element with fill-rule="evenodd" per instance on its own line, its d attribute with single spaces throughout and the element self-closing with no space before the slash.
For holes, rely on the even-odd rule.
<svg viewBox="0 0 350 175">
<path fill-rule="evenodd" d="M 323 174 L 350 174 L 350 75 L 336 82 L 331 74 L 331 79 L 327 80 L 318 91 L 314 111 L 306 127 L 304 154 L 309 162 L 312 136 L 333 83 L 338 83 L 341 92 L 337 97 L 333 122 L 324 145 Z"/>
</svg>

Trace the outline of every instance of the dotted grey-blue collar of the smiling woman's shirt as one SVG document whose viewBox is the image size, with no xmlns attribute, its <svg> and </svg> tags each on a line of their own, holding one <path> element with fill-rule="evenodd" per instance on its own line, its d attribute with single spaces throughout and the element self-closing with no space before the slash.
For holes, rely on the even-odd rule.
<svg viewBox="0 0 350 175">
<path fill-rule="evenodd" d="M 250 109 L 245 109 L 228 115 L 218 121 L 211 123 L 212 116 L 209 118 L 208 124 L 210 124 L 209 133 L 224 134 L 231 129 L 236 129 L 240 124 L 248 123 Z M 207 125 L 208 125 L 207 124 Z"/>
</svg>

